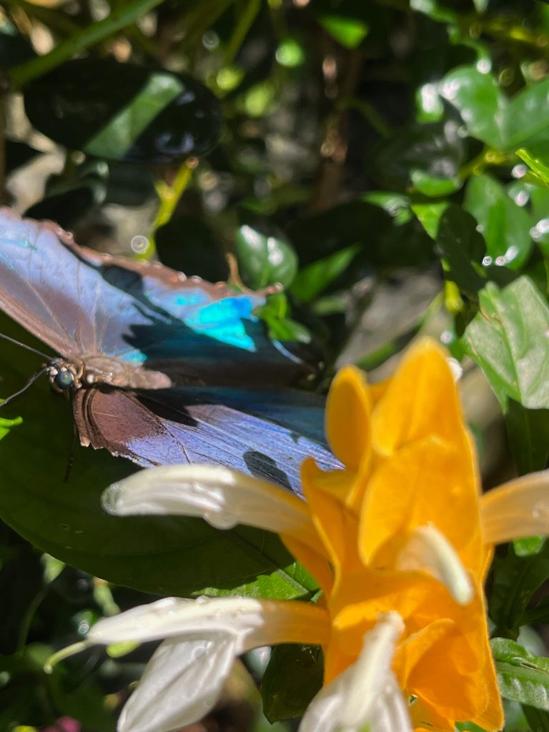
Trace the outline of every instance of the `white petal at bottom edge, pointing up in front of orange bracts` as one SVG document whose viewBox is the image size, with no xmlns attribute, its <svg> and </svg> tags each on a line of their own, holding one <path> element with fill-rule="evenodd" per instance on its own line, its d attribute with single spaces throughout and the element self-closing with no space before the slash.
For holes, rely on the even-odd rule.
<svg viewBox="0 0 549 732">
<path fill-rule="evenodd" d="M 408 732 L 411 724 L 391 671 L 403 630 L 397 613 L 385 613 L 365 635 L 359 658 L 322 687 L 307 708 L 299 732 Z M 388 726 L 393 725 L 393 726 Z"/>
</svg>

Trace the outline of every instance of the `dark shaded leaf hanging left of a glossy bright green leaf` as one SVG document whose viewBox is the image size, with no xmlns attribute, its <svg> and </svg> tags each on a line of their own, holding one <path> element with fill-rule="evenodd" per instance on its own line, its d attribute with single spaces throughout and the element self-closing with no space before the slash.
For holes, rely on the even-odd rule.
<svg viewBox="0 0 549 732">
<path fill-rule="evenodd" d="M 455 204 L 448 206 L 438 224 L 436 244 L 444 256 L 447 279 L 455 282 L 461 291 L 474 296 L 485 283 L 477 272 L 485 244 L 471 214 Z"/>
</svg>

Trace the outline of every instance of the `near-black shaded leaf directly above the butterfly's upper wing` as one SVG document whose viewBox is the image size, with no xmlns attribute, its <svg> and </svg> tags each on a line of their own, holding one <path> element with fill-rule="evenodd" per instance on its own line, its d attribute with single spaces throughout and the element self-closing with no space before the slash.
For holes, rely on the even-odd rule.
<svg viewBox="0 0 549 732">
<path fill-rule="evenodd" d="M 226 280 L 228 264 L 212 231 L 195 216 L 175 216 L 154 234 L 163 264 L 199 275 L 209 282 Z"/>
</svg>

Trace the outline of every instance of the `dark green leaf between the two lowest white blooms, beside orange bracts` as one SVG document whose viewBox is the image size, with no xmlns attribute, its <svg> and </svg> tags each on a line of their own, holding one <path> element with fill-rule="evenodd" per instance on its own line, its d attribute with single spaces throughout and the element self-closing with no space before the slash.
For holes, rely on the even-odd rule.
<svg viewBox="0 0 549 732">
<path fill-rule="evenodd" d="M 261 682 L 269 722 L 299 717 L 322 686 L 324 657 L 318 646 L 276 646 Z"/>
</svg>

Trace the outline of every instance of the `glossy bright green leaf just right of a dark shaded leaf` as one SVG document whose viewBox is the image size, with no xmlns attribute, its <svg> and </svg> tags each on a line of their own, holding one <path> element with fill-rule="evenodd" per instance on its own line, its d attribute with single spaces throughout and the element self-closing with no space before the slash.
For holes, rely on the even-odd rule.
<svg viewBox="0 0 549 732">
<path fill-rule="evenodd" d="M 520 269 L 529 258 L 531 219 L 504 187 L 486 174 L 469 179 L 463 208 L 477 219 L 486 251 L 496 264 Z"/>
</svg>

